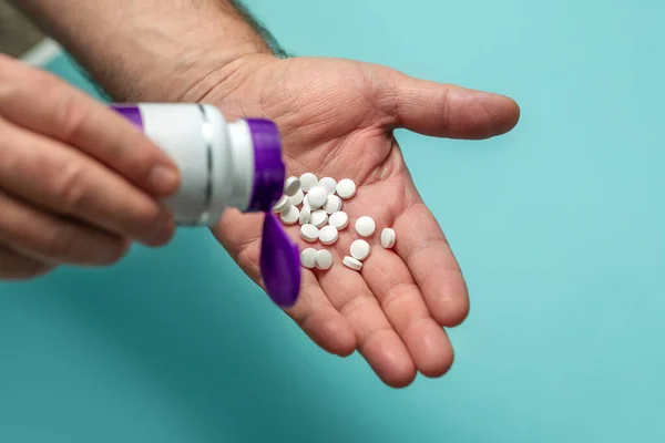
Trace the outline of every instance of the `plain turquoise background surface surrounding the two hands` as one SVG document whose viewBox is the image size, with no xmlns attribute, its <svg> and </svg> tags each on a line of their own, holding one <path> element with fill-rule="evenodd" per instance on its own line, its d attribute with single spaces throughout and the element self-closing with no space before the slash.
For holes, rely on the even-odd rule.
<svg viewBox="0 0 665 443">
<path fill-rule="evenodd" d="M 398 134 L 470 285 L 452 371 L 381 385 L 183 231 L 112 269 L 0 286 L 0 440 L 665 441 L 665 3 L 248 4 L 297 54 L 520 103 L 495 140 Z"/>
</svg>

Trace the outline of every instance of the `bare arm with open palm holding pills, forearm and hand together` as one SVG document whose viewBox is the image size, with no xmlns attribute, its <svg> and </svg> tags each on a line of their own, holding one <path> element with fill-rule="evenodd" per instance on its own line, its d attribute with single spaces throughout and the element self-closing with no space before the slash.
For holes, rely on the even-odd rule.
<svg viewBox="0 0 665 443">
<path fill-rule="evenodd" d="M 410 384 L 418 372 L 446 373 L 453 360 L 446 328 L 464 320 L 469 296 L 392 131 L 488 138 L 516 124 L 515 102 L 380 65 L 278 59 L 266 44 L 269 39 L 262 39 L 260 29 L 229 1 L 166 3 L 24 0 L 21 6 L 116 101 L 206 102 L 229 119 L 272 119 L 289 174 L 352 178 L 358 194 L 344 207 L 350 226 L 371 215 L 379 228 L 396 230 L 396 247 L 383 250 L 377 235 L 361 272 L 341 265 L 305 270 L 300 299 L 287 313 L 328 352 L 344 357 L 358 350 L 390 387 Z M 258 285 L 260 219 L 229 210 L 213 229 Z M 297 228 L 290 233 L 298 238 Z M 355 238 L 347 228 L 328 248 L 337 264 Z"/>
</svg>

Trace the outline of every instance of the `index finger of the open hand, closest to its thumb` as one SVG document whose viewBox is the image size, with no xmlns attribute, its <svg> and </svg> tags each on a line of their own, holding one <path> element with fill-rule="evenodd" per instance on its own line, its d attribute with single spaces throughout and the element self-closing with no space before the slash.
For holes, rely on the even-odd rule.
<svg viewBox="0 0 665 443">
<path fill-rule="evenodd" d="M 395 251 L 407 264 L 432 317 L 441 326 L 460 324 L 469 313 L 467 284 L 434 216 L 418 203 L 392 228 Z"/>
</svg>

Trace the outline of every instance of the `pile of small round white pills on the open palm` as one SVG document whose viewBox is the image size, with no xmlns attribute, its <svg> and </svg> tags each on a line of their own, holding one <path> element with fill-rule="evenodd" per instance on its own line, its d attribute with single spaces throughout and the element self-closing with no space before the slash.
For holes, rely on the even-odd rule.
<svg viewBox="0 0 665 443">
<path fill-rule="evenodd" d="M 350 178 L 337 182 L 331 177 L 320 181 L 311 173 L 299 178 L 288 177 L 284 183 L 284 195 L 273 210 L 287 226 L 300 225 L 300 238 L 307 243 L 320 241 L 325 246 L 335 245 L 339 231 L 349 225 L 348 215 L 341 210 L 342 200 L 356 195 L 356 184 Z M 369 216 L 356 220 L 356 233 L 364 238 L 371 237 L 377 225 Z M 395 230 L 385 228 L 380 235 L 381 246 L 390 249 L 395 246 Z M 355 240 L 344 257 L 344 266 L 361 270 L 362 261 L 369 257 L 371 247 L 364 239 Z M 332 254 L 326 249 L 306 248 L 300 253 L 300 264 L 307 269 L 327 270 L 332 267 Z"/>
</svg>

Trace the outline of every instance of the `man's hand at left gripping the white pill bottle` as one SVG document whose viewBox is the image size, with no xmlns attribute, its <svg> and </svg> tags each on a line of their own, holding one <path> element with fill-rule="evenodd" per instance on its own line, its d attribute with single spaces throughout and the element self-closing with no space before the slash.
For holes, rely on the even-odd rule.
<svg viewBox="0 0 665 443">
<path fill-rule="evenodd" d="M 173 235 L 156 202 L 178 186 L 171 159 L 115 112 L 3 55 L 0 133 L 0 278 L 111 265 L 132 240 Z"/>
</svg>

